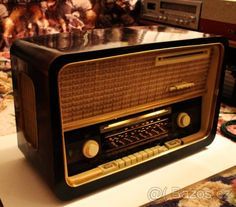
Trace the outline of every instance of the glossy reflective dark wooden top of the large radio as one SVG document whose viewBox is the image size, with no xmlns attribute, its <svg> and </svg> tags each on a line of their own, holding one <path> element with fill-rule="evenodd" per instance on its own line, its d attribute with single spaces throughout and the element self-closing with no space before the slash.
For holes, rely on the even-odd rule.
<svg viewBox="0 0 236 207">
<path fill-rule="evenodd" d="M 26 47 L 34 45 L 34 47 L 41 47 L 41 50 L 48 50 L 50 53 L 67 54 L 209 37 L 211 37 L 209 34 L 163 25 L 134 26 L 36 36 L 16 40 L 13 48 L 17 47 L 20 42 Z M 14 51 L 12 52 L 14 53 Z"/>
</svg>

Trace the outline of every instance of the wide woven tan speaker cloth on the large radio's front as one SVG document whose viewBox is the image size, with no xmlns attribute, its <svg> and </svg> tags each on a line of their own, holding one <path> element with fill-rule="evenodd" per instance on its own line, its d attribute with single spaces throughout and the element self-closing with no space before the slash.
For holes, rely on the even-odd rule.
<svg viewBox="0 0 236 207">
<path fill-rule="evenodd" d="M 62 124 L 205 90 L 210 55 L 157 65 L 158 55 L 160 51 L 66 65 L 58 77 Z M 169 91 L 185 82 L 194 87 Z"/>
</svg>

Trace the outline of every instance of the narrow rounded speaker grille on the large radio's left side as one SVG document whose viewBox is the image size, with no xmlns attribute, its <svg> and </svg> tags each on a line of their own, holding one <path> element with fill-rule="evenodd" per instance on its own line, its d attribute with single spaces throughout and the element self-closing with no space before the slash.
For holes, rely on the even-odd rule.
<svg viewBox="0 0 236 207">
<path fill-rule="evenodd" d="M 33 148 L 38 148 L 35 91 L 32 80 L 21 73 L 20 87 L 22 97 L 23 130 L 26 140 Z"/>
</svg>

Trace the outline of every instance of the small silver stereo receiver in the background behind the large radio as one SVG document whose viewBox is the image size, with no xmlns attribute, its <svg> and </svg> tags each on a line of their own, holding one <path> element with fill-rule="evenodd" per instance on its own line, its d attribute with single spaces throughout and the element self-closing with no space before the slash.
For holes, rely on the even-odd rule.
<svg viewBox="0 0 236 207">
<path fill-rule="evenodd" d="M 141 22 L 147 20 L 198 29 L 201 0 L 143 0 L 141 5 Z"/>
</svg>

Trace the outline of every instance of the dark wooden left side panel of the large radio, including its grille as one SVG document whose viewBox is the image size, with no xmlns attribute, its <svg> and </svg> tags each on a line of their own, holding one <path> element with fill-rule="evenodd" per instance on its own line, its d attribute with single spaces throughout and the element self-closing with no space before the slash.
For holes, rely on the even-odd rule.
<svg viewBox="0 0 236 207">
<path fill-rule="evenodd" d="M 11 55 L 11 61 L 18 147 L 53 185 L 54 135 L 48 76 L 20 57 Z"/>
</svg>

